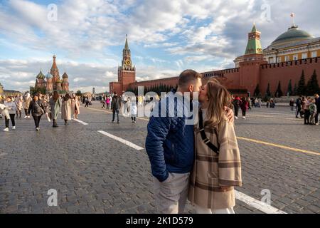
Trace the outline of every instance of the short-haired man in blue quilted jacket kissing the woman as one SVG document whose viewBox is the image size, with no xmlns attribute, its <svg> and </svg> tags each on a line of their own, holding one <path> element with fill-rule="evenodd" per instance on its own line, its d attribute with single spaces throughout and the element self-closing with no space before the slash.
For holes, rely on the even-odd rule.
<svg viewBox="0 0 320 228">
<path fill-rule="evenodd" d="M 154 175 L 154 195 L 160 213 L 182 213 L 186 204 L 188 178 L 194 160 L 194 123 L 188 120 L 193 120 L 193 110 L 198 111 L 196 105 L 190 104 L 192 93 L 198 92 L 202 86 L 201 78 L 196 71 L 183 71 L 178 78 L 178 89 L 173 91 L 176 93 L 163 98 L 149 120 L 146 152 Z M 186 92 L 191 94 L 191 99 L 182 96 Z M 165 105 L 161 105 L 164 99 Z M 179 115 L 181 110 L 186 112 Z M 228 117 L 230 115 L 233 119 L 233 112 L 228 109 Z"/>
</svg>

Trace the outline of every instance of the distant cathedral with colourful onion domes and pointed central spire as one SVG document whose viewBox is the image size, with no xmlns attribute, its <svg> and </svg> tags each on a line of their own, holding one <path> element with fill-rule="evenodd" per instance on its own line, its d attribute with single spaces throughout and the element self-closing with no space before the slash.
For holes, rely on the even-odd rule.
<svg viewBox="0 0 320 228">
<path fill-rule="evenodd" d="M 67 93 L 69 91 L 68 74 L 63 73 L 62 80 L 60 79 L 57 63 L 55 62 L 56 56 L 53 56 L 53 64 L 46 76 L 40 71 L 36 76 L 35 88 L 46 88 L 47 92 L 58 90 L 60 93 Z"/>
</svg>

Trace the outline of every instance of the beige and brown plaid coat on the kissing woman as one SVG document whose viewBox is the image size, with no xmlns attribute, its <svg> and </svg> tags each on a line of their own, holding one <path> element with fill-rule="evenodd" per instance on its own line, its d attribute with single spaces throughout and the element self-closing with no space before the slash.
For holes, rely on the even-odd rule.
<svg viewBox="0 0 320 228">
<path fill-rule="evenodd" d="M 234 186 L 241 186 L 240 151 L 233 123 L 224 120 L 219 132 L 205 126 L 207 138 L 219 155 L 201 139 L 199 125 L 195 125 L 195 162 L 191 172 L 188 199 L 192 204 L 210 209 L 235 206 Z M 221 186 L 228 187 L 225 192 Z"/>
</svg>

